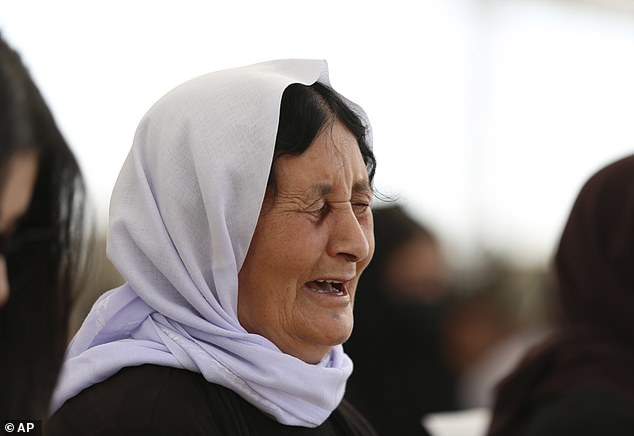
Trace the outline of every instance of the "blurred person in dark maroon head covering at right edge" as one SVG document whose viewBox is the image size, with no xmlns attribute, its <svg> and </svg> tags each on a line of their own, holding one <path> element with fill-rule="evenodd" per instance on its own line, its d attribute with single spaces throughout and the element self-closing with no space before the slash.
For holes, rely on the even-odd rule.
<svg viewBox="0 0 634 436">
<path fill-rule="evenodd" d="M 581 189 L 554 258 L 560 320 L 499 385 L 490 436 L 634 434 L 634 156 Z"/>
</svg>

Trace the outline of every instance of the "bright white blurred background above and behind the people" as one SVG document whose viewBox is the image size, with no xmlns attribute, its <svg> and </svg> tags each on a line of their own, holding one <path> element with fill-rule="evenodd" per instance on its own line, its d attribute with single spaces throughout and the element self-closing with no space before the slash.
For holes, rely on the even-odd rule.
<svg viewBox="0 0 634 436">
<path fill-rule="evenodd" d="M 617 0 L 0 0 L 105 222 L 136 124 L 194 76 L 325 58 L 374 128 L 377 187 L 446 242 L 545 265 L 581 183 L 634 151 Z"/>
</svg>

